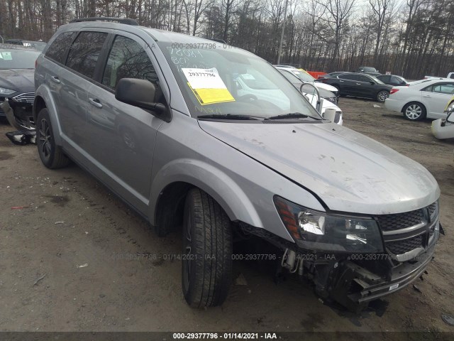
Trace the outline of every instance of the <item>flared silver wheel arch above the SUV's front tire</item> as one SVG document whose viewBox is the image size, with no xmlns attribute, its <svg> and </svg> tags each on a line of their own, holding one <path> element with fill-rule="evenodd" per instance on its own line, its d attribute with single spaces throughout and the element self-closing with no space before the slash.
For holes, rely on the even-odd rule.
<svg viewBox="0 0 454 341">
<path fill-rule="evenodd" d="M 167 163 L 155 175 L 150 194 L 149 217 L 152 225 L 155 224 L 160 193 L 167 185 L 180 181 L 190 183 L 211 195 L 232 221 L 240 220 L 255 227 L 263 227 L 253 203 L 232 178 L 209 163 L 189 158 Z"/>
</svg>

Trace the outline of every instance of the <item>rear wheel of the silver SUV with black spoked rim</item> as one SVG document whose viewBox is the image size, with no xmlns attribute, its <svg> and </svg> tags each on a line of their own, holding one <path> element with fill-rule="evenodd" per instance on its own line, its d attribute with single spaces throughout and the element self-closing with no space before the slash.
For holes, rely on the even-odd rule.
<svg viewBox="0 0 454 341">
<path fill-rule="evenodd" d="M 48 108 L 41 109 L 36 119 L 36 146 L 41 162 L 47 168 L 62 168 L 70 163 L 62 148 L 55 144 Z"/>
</svg>

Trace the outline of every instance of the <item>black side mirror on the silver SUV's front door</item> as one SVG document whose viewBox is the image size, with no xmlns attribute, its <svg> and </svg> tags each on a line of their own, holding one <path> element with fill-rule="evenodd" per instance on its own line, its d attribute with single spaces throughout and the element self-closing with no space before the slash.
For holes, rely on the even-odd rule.
<svg viewBox="0 0 454 341">
<path fill-rule="evenodd" d="M 150 110 L 155 116 L 170 121 L 167 107 L 162 103 L 155 103 L 155 95 L 156 88 L 152 82 L 137 78 L 121 78 L 115 90 L 115 98 L 118 101 Z"/>
</svg>

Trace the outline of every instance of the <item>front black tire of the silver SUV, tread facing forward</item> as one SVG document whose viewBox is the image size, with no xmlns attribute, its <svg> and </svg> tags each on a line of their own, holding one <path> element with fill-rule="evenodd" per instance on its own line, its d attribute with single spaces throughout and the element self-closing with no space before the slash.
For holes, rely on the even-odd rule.
<svg viewBox="0 0 454 341">
<path fill-rule="evenodd" d="M 221 206 L 199 188 L 184 205 L 182 289 L 192 308 L 225 301 L 232 280 L 231 221 Z"/>
</svg>

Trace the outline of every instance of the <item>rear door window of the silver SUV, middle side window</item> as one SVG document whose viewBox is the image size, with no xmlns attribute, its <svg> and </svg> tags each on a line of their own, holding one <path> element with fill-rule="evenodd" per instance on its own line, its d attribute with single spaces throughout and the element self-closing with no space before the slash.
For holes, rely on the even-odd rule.
<svg viewBox="0 0 454 341">
<path fill-rule="evenodd" d="M 66 65 L 80 74 L 93 78 L 107 33 L 82 31 L 70 47 Z"/>
</svg>

